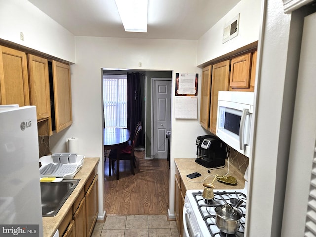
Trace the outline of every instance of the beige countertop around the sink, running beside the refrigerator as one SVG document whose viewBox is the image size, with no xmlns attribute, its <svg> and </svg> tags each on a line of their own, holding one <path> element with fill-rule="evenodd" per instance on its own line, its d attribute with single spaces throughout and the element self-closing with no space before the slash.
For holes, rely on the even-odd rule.
<svg viewBox="0 0 316 237">
<path fill-rule="evenodd" d="M 62 220 L 68 213 L 68 211 L 72 208 L 72 205 L 76 198 L 78 197 L 80 191 L 84 188 L 84 185 L 89 178 L 90 174 L 94 170 L 94 168 L 98 165 L 100 158 L 84 158 L 83 166 L 75 175 L 74 179 L 80 179 L 80 182 L 73 190 L 71 195 L 65 201 L 63 206 L 58 211 L 57 215 L 54 217 L 43 217 L 43 230 L 44 237 L 52 237 Z"/>
</svg>

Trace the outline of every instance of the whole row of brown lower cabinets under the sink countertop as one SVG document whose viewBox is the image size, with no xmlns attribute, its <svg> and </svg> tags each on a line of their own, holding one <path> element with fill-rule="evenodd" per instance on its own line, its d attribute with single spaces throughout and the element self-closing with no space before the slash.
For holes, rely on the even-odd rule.
<svg viewBox="0 0 316 237">
<path fill-rule="evenodd" d="M 98 217 L 98 175 L 92 172 L 59 226 L 59 237 L 90 237 Z"/>
</svg>

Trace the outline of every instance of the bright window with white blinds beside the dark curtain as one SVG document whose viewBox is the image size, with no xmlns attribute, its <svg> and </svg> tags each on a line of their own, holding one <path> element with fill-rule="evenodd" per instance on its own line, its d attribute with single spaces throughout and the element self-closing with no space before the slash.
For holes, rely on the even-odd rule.
<svg viewBox="0 0 316 237">
<path fill-rule="evenodd" d="M 104 127 L 127 127 L 127 75 L 103 75 Z"/>
</svg>

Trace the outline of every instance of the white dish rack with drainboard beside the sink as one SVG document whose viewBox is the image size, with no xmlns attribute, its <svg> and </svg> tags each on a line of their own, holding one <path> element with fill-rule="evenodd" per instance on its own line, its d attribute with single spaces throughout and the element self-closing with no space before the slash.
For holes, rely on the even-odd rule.
<svg viewBox="0 0 316 237">
<path fill-rule="evenodd" d="M 56 156 L 65 157 L 67 155 L 72 156 L 70 162 L 56 162 Z M 76 159 L 73 159 L 74 157 Z M 82 155 L 68 153 L 43 156 L 40 158 L 40 178 L 56 177 L 57 182 L 63 179 L 73 179 L 76 173 L 81 169 L 84 158 L 85 156 Z"/>
</svg>

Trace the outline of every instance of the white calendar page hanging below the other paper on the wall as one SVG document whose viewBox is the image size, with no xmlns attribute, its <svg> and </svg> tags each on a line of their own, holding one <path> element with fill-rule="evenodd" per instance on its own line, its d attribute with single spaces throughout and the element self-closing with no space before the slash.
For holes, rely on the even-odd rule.
<svg viewBox="0 0 316 237">
<path fill-rule="evenodd" d="M 176 96 L 175 118 L 197 119 L 197 96 Z"/>
</svg>

